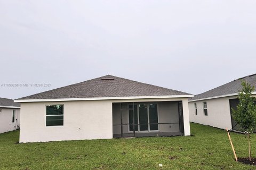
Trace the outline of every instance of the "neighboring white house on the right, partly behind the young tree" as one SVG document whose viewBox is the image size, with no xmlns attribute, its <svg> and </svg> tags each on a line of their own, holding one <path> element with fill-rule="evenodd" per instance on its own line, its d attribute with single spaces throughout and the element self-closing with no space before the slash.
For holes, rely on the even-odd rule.
<svg viewBox="0 0 256 170">
<path fill-rule="evenodd" d="M 236 109 L 239 103 L 238 90 L 242 90 L 241 79 L 256 86 L 256 74 L 253 74 L 189 99 L 190 121 L 221 129 L 239 130 L 231 116 L 231 108 Z M 253 92 L 253 96 L 256 97 L 256 91 Z"/>
</svg>

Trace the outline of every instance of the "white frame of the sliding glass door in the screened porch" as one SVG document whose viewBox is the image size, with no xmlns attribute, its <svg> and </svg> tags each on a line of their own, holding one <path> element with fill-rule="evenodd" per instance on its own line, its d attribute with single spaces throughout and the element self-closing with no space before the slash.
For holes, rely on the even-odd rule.
<svg viewBox="0 0 256 170">
<path fill-rule="evenodd" d="M 159 112 L 158 112 L 158 109 L 159 109 L 159 107 L 158 107 L 158 103 L 139 103 L 139 104 L 146 104 L 147 105 L 147 112 L 148 112 L 148 130 L 146 130 L 146 131 L 141 131 L 140 130 L 140 125 L 138 125 L 138 131 L 135 131 L 135 132 L 159 132 L 160 131 L 160 126 L 159 126 L 159 124 L 158 124 L 158 130 L 149 130 L 150 129 L 150 124 L 149 124 L 149 105 L 150 104 L 156 104 L 157 105 L 157 123 L 159 123 Z M 128 104 L 128 107 L 129 107 L 129 104 Z M 129 120 L 130 120 L 130 118 L 129 118 L 129 110 L 128 110 L 128 112 L 127 112 L 128 114 L 128 122 L 129 122 Z M 139 107 L 137 106 L 137 116 L 138 116 L 138 124 L 140 123 L 140 114 L 139 114 Z M 129 122 L 129 124 L 130 124 L 130 122 Z M 132 133 L 133 131 L 130 131 L 130 125 L 128 125 L 128 132 L 129 133 Z"/>
</svg>

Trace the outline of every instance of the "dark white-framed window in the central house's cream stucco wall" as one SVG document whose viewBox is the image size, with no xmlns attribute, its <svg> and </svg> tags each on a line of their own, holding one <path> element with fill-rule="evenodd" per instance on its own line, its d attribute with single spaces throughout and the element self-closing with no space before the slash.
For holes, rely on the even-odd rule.
<svg viewBox="0 0 256 170">
<path fill-rule="evenodd" d="M 46 126 L 63 126 L 63 105 L 46 105 Z"/>
</svg>

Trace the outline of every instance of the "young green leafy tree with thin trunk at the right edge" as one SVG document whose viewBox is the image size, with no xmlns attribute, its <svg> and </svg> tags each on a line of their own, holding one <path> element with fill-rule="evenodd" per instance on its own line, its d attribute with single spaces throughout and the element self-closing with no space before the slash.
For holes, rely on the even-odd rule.
<svg viewBox="0 0 256 170">
<path fill-rule="evenodd" d="M 232 115 L 241 130 L 246 133 L 251 161 L 250 134 L 256 129 L 256 105 L 255 98 L 252 97 L 254 86 L 244 80 L 241 80 L 241 84 L 243 89 L 238 93 L 239 104 L 236 110 L 232 109 Z"/>
</svg>

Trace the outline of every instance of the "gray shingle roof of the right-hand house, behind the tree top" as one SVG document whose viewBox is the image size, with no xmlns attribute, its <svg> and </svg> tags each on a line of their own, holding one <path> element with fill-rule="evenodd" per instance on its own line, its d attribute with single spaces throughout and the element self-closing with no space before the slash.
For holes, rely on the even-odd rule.
<svg viewBox="0 0 256 170">
<path fill-rule="evenodd" d="M 203 92 L 202 94 L 195 95 L 193 98 L 189 98 L 190 101 L 209 99 L 209 98 L 219 98 L 226 96 L 235 96 L 238 94 L 239 90 L 242 90 L 242 85 L 240 80 L 245 80 L 252 86 L 256 87 L 256 74 L 248 75 L 243 78 L 236 79 L 220 87 L 214 88 L 212 90 Z M 255 88 L 256 91 L 256 88 Z"/>
</svg>

